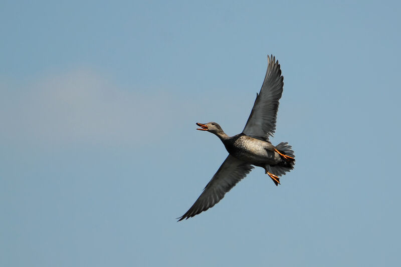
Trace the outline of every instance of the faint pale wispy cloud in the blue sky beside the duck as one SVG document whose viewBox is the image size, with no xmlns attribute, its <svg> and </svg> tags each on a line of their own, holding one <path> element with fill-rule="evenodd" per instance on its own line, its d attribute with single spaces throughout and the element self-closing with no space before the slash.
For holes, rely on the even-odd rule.
<svg viewBox="0 0 401 267">
<path fill-rule="evenodd" d="M 124 90 L 89 70 L 2 87 L 0 136 L 11 142 L 143 143 L 182 116 L 186 102 L 167 91 Z"/>
</svg>

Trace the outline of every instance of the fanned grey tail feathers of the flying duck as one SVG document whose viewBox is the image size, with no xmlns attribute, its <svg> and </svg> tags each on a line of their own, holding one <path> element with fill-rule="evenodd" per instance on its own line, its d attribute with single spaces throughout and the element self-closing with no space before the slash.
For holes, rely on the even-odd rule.
<svg viewBox="0 0 401 267">
<path fill-rule="evenodd" d="M 289 172 L 294 168 L 295 164 L 295 155 L 292 150 L 292 146 L 288 144 L 288 142 L 282 142 L 276 146 L 277 152 L 280 154 L 283 159 L 281 164 L 270 166 L 266 165 L 266 169 L 268 172 L 281 176 L 285 175 L 286 172 Z M 277 184 L 276 184 L 277 185 Z"/>
</svg>

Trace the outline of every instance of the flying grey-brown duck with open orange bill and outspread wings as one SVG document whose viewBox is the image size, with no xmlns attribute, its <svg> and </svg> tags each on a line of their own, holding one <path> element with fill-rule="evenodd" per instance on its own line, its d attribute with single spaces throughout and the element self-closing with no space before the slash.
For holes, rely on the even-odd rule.
<svg viewBox="0 0 401 267">
<path fill-rule="evenodd" d="M 267 57 L 267 71 L 259 94 L 245 124 L 237 135 L 228 136 L 216 122 L 196 123 L 199 131 L 215 134 L 229 155 L 204 188 L 202 194 L 178 221 L 193 217 L 216 205 L 254 167 L 262 167 L 276 186 L 280 176 L 294 168 L 295 155 L 288 142 L 274 146 L 269 137 L 276 130 L 279 100 L 283 93 L 284 77 L 273 55 Z"/>
</svg>

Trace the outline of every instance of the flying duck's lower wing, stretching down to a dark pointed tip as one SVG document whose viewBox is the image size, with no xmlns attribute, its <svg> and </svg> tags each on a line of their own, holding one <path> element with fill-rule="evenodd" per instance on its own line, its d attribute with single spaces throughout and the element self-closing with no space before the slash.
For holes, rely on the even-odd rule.
<svg viewBox="0 0 401 267">
<path fill-rule="evenodd" d="M 251 164 L 229 155 L 206 185 L 202 194 L 178 221 L 193 217 L 216 205 L 253 168 Z"/>
</svg>

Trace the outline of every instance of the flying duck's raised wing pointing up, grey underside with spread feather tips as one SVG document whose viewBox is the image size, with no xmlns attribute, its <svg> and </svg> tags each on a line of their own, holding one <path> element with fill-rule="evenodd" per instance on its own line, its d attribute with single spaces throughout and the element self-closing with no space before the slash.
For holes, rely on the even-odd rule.
<svg viewBox="0 0 401 267">
<path fill-rule="evenodd" d="M 283 93 L 283 76 L 280 64 L 273 56 L 267 56 L 268 66 L 265 80 L 259 94 L 256 94 L 254 107 L 243 130 L 248 136 L 268 141 L 276 129 L 277 110 Z"/>
</svg>

